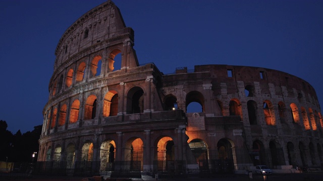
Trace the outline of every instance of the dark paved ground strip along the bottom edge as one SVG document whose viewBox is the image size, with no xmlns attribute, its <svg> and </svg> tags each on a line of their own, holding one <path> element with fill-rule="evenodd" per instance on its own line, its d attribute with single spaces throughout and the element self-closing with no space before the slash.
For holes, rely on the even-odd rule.
<svg viewBox="0 0 323 181">
<path fill-rule="evenodd" d="M 322 181 L 323 180 L 323 172 L 310 172 L 310 173 L 288 173 L 288 174 L 273 174 L 267 177 L 263 177 L 262 175 L 256 174 L 253 175 L 253 178 L 249 178 L 249 176 L 245 174 L 227 174 L 227 175 L 212 175 L 211 177 L 201 177 L 199 176 L 182 176 L 182 177 L 168 177 L 168 178 L 159 178 L 159 181 L 184 181 L 184 180 L 199 180 L 199 181 L 262 181 L 262 180 L 275 180 L 275 181 Z M 205 176 L 205 175 L 204 175 Z M 26 181 L 60 181 L 60 180 L 69 180 L 69 181 L 81 181 L 85 177 L 76 177 L 76 176 L 49 176 L 49 175 L 32 175 L 27 177 L 19 177 L 19 176 L 4 176 L 0 175 L 0 180 L 26 180 Z M 151 176 L 144 175 L 142 178 L 132 178 L 132 180 L 145 180 L 152 181 L 156 180 Z"/>
</svg>

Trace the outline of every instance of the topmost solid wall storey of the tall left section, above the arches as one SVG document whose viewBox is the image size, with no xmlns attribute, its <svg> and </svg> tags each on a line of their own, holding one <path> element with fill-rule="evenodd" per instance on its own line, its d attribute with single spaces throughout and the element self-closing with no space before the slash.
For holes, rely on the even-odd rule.
<svg viewBox="0 0 323 181">
<path fill-rule="evenodd" d="M 61 37 L 56 51 L 54 69 L 73 55 L 91 45 L 129 33 L 120 10 L 107 1 L 76 20 Z M 133 38 L 133 32 L 130 32 Z"/>
</svg>

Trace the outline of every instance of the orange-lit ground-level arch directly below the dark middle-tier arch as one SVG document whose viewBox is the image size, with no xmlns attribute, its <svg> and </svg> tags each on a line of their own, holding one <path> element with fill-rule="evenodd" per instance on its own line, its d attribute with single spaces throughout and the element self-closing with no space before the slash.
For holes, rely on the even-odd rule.
<svg viewBox="0 0 323 181">
<path fill-rule="evenodd" d="M 129 169 L 129 171 L 143 170 L 143 142 L 140 138 L 132 138 L 127 141 L 125 161 L 125 169 Z"/>
</svg>

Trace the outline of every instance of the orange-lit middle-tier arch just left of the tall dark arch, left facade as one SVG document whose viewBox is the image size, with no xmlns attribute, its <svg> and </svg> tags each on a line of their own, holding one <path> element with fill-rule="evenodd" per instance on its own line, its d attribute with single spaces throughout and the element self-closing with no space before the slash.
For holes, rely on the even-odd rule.
<svg viewBox="0 0 323 181">
<path fill-rule="evenodd" d="M 118 114 L 118 93 L 109 91 L 103 99 L 103 117 L 117 116 Z"/>
</svg>

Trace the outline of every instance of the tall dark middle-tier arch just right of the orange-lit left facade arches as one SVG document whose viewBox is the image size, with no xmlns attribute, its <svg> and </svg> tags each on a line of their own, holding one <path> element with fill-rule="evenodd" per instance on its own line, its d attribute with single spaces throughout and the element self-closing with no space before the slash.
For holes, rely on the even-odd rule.
<svg viewBox="0 0 323 181">
<path fill-rule="evenodd" d="M 143 113 L 144 91 L 141 87 L 132 87 L 127 94 L 127 114 Z"/>
</svg>

